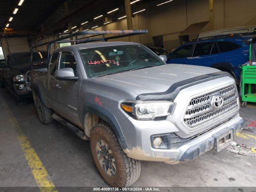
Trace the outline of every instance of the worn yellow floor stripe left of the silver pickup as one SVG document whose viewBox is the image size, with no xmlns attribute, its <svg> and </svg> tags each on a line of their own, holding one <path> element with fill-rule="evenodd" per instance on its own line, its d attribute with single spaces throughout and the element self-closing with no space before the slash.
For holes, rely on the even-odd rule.
<svg viewBox="0 0 256 192">
<path fill-rule="evenodd" d="M 1 103 L 4 106 L 4 110 L 6 110 L 6 112 L 8 112 L 8 114 L 11 117 L 10 123 L 12 124 L 12 126 L 14 127 L 17 133 L 18 141 L 20 142 L 20 146 L 24 152 L 28 165 L 32 170 L 32 174 L 36 180 L 36 183 L 40 191 L 41 192 L 58 192 L 52 180 L 50 179 L 46 169 L 44 168 L 44 165 L 42 164 L 40 158 L 36 154 L 34 148 L 31 146 L 31 143 L 28 140 L 27 136 L 24 134 L 24 132 L 18 125 L 16 118 L 14 118 L 12 112 L 10 111 L 9 107 L 7 106 L 3 98 L 1 99 Z"/>
</svg>

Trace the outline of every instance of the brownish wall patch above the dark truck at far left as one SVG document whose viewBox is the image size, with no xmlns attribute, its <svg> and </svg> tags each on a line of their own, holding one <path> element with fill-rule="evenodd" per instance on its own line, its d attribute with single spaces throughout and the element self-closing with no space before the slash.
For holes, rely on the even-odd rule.
<svg viewBox="0 0 256 192">
<path fill-rule="evenodd" d="M 9 53 L 24 52 L 30 50 L 27 37 L 1 37 L 0 40 L 5 58 Z"/>
</svg>

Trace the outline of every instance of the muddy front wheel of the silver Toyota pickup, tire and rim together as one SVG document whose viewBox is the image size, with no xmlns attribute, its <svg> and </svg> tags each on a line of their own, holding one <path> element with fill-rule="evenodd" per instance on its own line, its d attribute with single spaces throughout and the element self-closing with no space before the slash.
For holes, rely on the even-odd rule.
<svg viewBox="0 0 256 192">
<path fill-rule="evenodd" d="M 110 186 L 128 187 L 138 180 L 140 161 L 129 158 L 124 153 L 108 124 L 94 126 L 90 146 L 96 167 Z"/>
</svg>

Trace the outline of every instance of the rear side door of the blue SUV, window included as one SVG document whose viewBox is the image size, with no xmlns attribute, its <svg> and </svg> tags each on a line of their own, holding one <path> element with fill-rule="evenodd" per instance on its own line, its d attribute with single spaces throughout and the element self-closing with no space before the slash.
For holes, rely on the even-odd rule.
<svg viewBox="0 0 256 192">
<path fill-rule="evenodd" d="M 214 42 L 197 43 L 188 64 L 210 67 L 218 60 L 218 49 Z"/>
</svg>

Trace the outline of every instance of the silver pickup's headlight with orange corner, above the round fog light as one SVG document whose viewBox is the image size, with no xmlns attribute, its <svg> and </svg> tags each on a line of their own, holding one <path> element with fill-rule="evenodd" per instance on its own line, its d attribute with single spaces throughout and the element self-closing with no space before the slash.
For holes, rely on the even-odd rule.
<svg viewBox="0 0 256 192">
<path fill-rule="evenodd" d="M 171 101 L 125 101 L 121 104 L 121 108 L 137 120 L 168 116 L 173 106 Z"/>
</svg>

